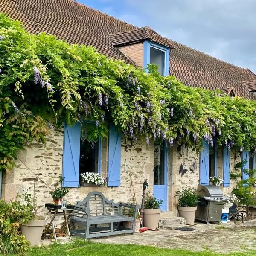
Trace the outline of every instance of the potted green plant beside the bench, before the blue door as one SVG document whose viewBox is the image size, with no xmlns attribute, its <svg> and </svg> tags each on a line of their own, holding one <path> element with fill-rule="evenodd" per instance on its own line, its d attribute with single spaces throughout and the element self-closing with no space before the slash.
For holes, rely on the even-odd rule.
<svg viewBox="0 0 256 256">
<path fill-rule="evenodd" d="M 157 199 L 152 195 L 152 192 L 148 192 L 145 196 L 145 208 L 143 215 L 144 227 L 149 229 L 158 228 L 158 222 L 160 217 L 160 206 L 163 204 L 163 200 Z"/>
</svg>

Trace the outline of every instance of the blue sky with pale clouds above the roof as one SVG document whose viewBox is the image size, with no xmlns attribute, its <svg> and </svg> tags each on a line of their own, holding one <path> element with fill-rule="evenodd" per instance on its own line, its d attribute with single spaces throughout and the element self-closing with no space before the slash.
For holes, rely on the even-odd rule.
<svg viewBox="0 0 256 256">
<path fill-rule="evenodd" d="M 78 0 L 256 73 L 256 0 Z"/>
</svg>

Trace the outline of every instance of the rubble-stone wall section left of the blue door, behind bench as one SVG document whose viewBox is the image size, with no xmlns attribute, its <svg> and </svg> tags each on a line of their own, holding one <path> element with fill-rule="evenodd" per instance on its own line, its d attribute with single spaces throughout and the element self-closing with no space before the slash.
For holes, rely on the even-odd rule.
<svg viewBox="0 0 256 256">
<path fill-rule="evenodd" d="M 83 200 L 90 191 L 100 191 L 107 198 L 118 201 L 131 201 L 134 196 L 131 189 L 132 175 L 134 189 L 136 192 L 137 203 L 141 204 L 142 183 L 148 179 L 150 188 L 153 188 L 153 163 L 154 146 L 146 147 L 145 140 L 137 139 L 137 142 L 131 148 L 125 150 L 125 140 L 122 139 L 121 155 L 121 185 L 119 187 L 80 187 L 70 188 L 70 192 L 65 197 L 70 203 L 76 204 L 76 201 Z M 47 137 L 47 143 L 44 147 L 40 143 L 30 143 L 25 150 L 18 153 L 20 158 L 16 161 L 17 167 L 9 174 L 3 175 L 2 198 L 7 201 L 14 200 L 17 193 L 32 192 L 35 186 L 35 192 L 38 200 L 38 212 L 46 213 L 45 203 L 52 202 L 49 195 L 51 188 L 59 181 L 62 175 L 62 157 L 63 157 L 63 129 L 52 131 Z M 126 172 L 125 172 L 126 162 Z M 29 170 L 27 167 L 29 167 Z M 108 173 L 108 141 L 102 141 L 102 176 L 107 177 Z M 33 174 L 35 173 L 35 174 Z"/>
</svg>

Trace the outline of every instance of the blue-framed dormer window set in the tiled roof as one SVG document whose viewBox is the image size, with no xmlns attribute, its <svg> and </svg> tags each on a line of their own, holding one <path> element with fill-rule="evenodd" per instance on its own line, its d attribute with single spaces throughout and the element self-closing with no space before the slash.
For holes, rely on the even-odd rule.
<svg viewBox="0 0 256 256">
<path fill-rule="evenodd" d="M 153 61 L 153 54 L 155 54 L 155 62 Z M 147 71 L 148 64 L 158 64 L 160 66 L 160 74 L 162 76 L 169 75 L 169 54 L 170 50 L 160 44 L 151 41 L 144 41 L 143 44 L 143 67 Z"/>
</svg>

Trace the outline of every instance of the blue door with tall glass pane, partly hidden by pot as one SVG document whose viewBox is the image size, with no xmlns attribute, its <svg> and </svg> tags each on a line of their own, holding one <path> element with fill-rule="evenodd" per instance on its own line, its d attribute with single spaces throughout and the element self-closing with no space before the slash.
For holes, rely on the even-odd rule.
<svg viewBox="0 0 256 256">
<path fill-rule="evenodd" d="M 154 197 L 163 200 L 162 211 L 167 211 L 167 153 L 164 142 L 154 148 Z"/>
</svg>

